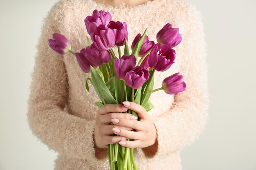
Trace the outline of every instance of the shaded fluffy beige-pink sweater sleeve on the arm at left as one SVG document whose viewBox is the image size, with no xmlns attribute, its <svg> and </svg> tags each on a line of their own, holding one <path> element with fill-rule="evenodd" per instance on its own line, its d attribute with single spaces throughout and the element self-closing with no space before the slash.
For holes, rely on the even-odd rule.
<svg viewBox="0 0 256 170">
<path fill-rule="evenodd" d="M 32 134 L 54 152 L 97 161 L 94 155 L 94 120 L 76 117 L 65 109 L 68 79 L 63 55 L 48 45 L 52 34 L 59 33 L 60 10 L 58 5 L 53 6 L 44 19 L 36 47 L 34 72 L 31 73 L 27 121 Z"/>
</svg>

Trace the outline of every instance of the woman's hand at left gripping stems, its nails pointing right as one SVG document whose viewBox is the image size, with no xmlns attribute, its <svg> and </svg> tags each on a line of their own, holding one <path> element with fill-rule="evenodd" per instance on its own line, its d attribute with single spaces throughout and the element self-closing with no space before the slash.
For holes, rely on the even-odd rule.
<svg viewBox="0 0 256 170">
<path fill-rule="evenodd" d="M 121 140 L 128 138 L 122 136 L 110 136 L 113 134 L 112 129 L 118 128 L 122 130 L 132 130 L 132 128 L 124 127 L 121 125 L 111 125 L 110 119 L 136 119 L 135 116 L 129 113 L 117 113 L 125 112 L 128 108 L 121 104 L 106 104 L 99 110 L 97 110 L 94 126 L 94 148 L 108 148 L 108 144 L 116 144 Z"/>
</svg>

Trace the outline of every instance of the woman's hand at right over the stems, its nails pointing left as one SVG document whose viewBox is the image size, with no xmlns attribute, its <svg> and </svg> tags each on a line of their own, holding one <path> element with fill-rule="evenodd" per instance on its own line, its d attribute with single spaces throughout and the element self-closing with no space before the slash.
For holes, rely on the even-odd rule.
<svg viewBox="0 0 256 170">
<path fill-rule="evenodd" d="M 134 139 L 133 141 L 126 141 L 122 139 L 119 144 L 127 148 L 146 148 L 148 146 L 153 146 L 157 142 L 157 129 L 153 124 L 150 116 L 148 115 L 146 109 L 139 104 L 134 102 L 123 102 L 126 108 L 134 110 L 140 120 L 131 120 L 125 118 L 113 118 L 111 121 L 115 125 L 125 126 L 128 128 L 136 129 L 136 131 L 129 131 L 128 129 L 113 128 L 113 132 L 122 137 Z"/>
</svg>

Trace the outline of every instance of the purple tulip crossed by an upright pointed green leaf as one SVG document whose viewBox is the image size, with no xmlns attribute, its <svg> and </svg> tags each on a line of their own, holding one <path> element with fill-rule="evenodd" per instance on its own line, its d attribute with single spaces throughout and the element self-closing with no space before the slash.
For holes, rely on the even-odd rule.
<svg viewBox="0 0 256 170">
<path fill-rule="evenodd" d="M 132 50 L 134 49 L 135 45 L 137 44 L 140 38 L 141 38 L 141 34 L 138 33 L 134 38 L 134 40 L 132 41 Z M 155 42 L 148 41 L 148 35 L 146 35 L 144 42 L 141 46 L 141 49 L 139 51 L 139 56 L 140 57 L 144 56 L 154 45 L 155 45 Z"/>
</svg>

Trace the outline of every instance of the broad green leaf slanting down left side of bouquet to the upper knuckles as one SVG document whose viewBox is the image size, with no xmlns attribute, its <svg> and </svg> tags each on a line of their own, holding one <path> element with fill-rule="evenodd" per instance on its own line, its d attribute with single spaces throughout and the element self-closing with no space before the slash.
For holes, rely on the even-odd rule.
<svg viewBox="0 0 256 170">
<path fill-rule="evenodd" d="M 103 82 L 97 71 L 91 66 L 92 81 L 94 82 L 94 88 L 96 87 L 106 101 L 106 104 L 117 104 L 115 98 L 112 96 L 105 82 Z"/>
</svg>

